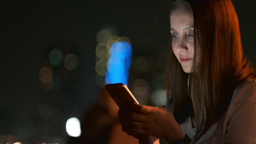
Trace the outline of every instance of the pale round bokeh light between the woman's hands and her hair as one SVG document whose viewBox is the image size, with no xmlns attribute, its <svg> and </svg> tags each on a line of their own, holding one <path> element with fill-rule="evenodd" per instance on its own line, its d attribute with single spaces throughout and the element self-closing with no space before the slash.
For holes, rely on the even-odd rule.
<svg viewBox="0 0 256 144">
<path fill-rule="evenodd" d="M 156 89 L 151 95 L 151 102 L 153 105 L 166 106 L 167 105 L 166 89 Z"/>
</svg>

